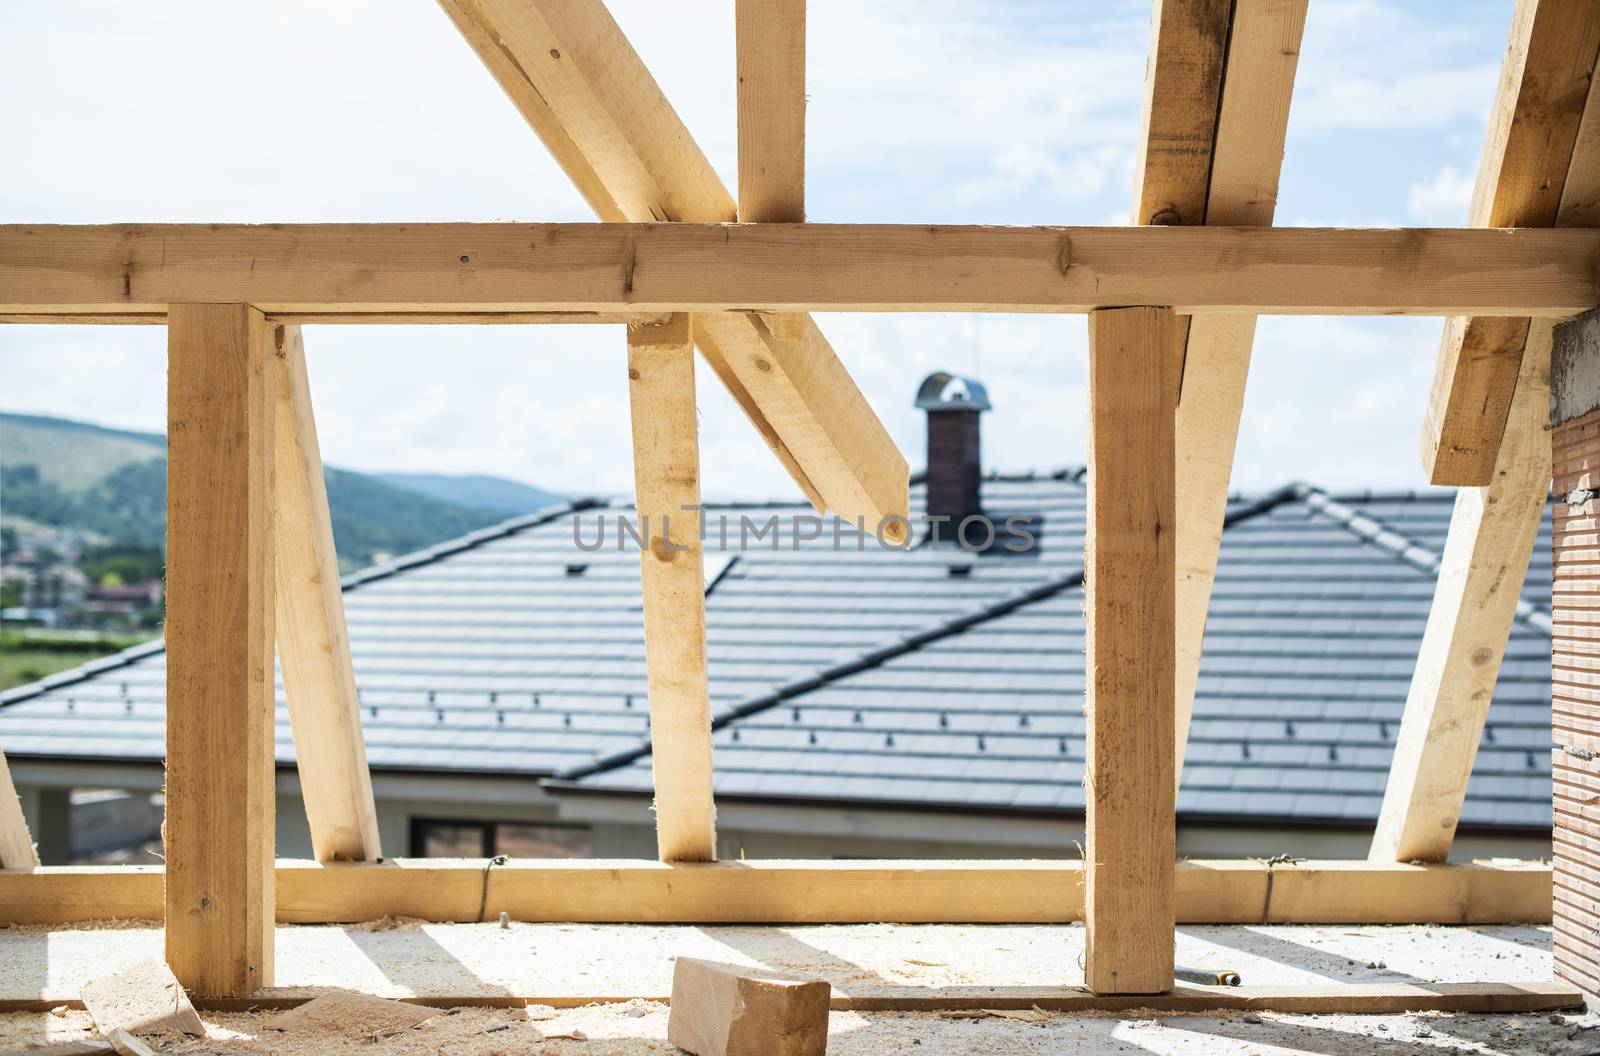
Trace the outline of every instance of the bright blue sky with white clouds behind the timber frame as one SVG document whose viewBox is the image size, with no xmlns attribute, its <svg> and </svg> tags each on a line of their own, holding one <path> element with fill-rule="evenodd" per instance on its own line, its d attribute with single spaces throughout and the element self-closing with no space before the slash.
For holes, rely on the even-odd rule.
<svg viewBox="0 0 1600 1056">
<path fill-rule="evenodd" d="M 610 0 L 736 184 L 731 0 Z M 1459 226 L 1512 0 L 1312 0 L 1277 218 Z M 1123 224 L 1147 0 L 811 0 L 806 211 Z M 589 221 L 432 0 L 0 5 L 0 222 Z M 1082 315 L 819 315 L 906 453 L 917 382 L 976 374 L 984 461 L 1085 456 Z M 1270 317 L 1234 485 L 1424 486 L 1435 318 Z M 323 458 L 632 490 L 616 326 L 307 326 Z M 794 493 L 704 366 L 707 498 Z M 165 427 L 160 326 L 0 326 L 0 410 Z"/>
</svg>

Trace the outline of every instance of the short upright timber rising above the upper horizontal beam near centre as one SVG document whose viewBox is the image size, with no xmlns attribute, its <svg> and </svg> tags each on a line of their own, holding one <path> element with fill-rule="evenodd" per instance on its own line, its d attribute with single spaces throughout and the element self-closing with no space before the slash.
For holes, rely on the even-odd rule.
<svg viewBox="0 0 1600 1056">
<path fill-rule="evenodd" d="M 738 0 L 739 222 L 805 221 L 806 0 Z"/>
</svg>

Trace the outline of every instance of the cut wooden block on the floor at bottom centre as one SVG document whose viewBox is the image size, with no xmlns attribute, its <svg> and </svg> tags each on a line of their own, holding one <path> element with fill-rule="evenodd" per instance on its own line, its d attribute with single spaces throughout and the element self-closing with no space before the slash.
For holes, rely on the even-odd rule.
<svg viewBox="0 0 1600 1056">
<path fill-rule="evenodd" d="M 694 1056 L 822 1056 L 830 997 L 821 979 L 678 957 L 667 1040 Z"/>
</svg>

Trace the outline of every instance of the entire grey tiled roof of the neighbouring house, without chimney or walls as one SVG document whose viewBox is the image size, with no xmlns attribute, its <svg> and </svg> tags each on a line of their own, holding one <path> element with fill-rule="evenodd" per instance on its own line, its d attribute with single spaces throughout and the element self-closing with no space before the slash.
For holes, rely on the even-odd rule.
<svg viewBox="0 0 1600 1056">
<path fill-rule="evenodd" d="M 922 490 L 914 488 L 914 507 Z M 998 477 L 986 506 L 1038 518 L 1029 555 L 955 547 L 749 549 L 707 597 L 717 792 L 947 810 L 1080 811 L 1078 472 Z M 582 552 L 562 507 L 354 576 L 350 645 L 374 770 L 566 774 L 646 792 L 638 558 Z M 717 507 L 717 520 L 805 515 Z M 1450 494 L 1298 488 L 1235 501 L 1179 810 L 1366 821 L 1382 795 Z M 710 558 L 710 554 L 709 554 Z M 712 560 L 707 562 L 714 565 Z M 578 566 L 582 566 L 581 570 Z M 1541 827 L 1549 805 L 1547 525 L 1462 822 Z M 1542 626 L 1541 626 L 1541 618 Z M 0 698 L 16 757 L 158 760 L 158 646 Z M 293 744 L 278 701 L 278 760 Z"/>
</svg>

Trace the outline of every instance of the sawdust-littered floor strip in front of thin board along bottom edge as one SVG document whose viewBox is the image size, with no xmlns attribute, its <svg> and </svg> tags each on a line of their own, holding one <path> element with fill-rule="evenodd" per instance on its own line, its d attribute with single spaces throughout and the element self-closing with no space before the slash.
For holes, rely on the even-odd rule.
<svg viewBox="0 0 1600 1056">
<path fill-rule="evenodd" d="M 667 1006 L 659 1002 L 587 1005 L 565 1010 L 459 1008 L 370 1040 L 339 1030 L 277 1034 L 262 1024 L 270 1013 L 202 1013 L 203 1038 L 155 1038 L 163 1056 L 288 1054 L 328 1056 L 642 1056 L 677 1053 L 667 1045 Z M 1075 1053 L 1149 1053 L 1154 1056 L 1238 1056 L 1307 1053 L 1317 1056 L 1576 1056 L 1600 1048 L 1594 1016 L 1034 1016 L 955 1018 L 938 1013 L 848 1013 L 829 1021 L 832 1056 L 902 1053 L 931 1056 L 994 1053 L 1040 1056 Z M 554 1040 L 582 1034 L 584 1040 Z M 93 1038 L 88 1014 L 74 1010 L 0 1016 L 0 1053 L 30 1045 Z M 550 1040 L 546 1040 L 550 1038 Z"/>
</svg>

